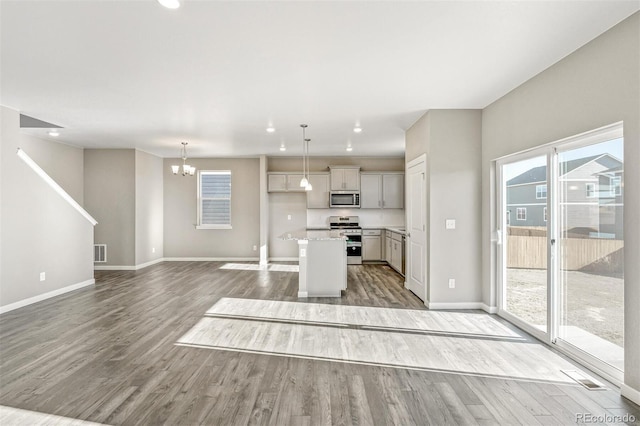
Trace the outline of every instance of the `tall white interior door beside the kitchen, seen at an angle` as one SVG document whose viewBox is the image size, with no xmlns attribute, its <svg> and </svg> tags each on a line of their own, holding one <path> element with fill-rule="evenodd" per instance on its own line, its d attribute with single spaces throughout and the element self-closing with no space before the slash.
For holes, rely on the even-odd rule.
<svg viewBox="0 0 640 426">
<path fill-rule="evenodd" d="M 423 155 L 407 167 L 406 286 L 423 301 L 427 299 L 427 161 Z"/>
</svg>

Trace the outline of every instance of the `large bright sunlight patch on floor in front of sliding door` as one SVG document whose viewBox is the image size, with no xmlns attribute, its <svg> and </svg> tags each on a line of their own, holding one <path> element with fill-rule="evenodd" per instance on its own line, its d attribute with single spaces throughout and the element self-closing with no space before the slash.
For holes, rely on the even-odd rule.
<svg viewBox="0 0 640 426">
<path fill-rule="evenodd" d="M 572 383 L 575 369 L 483 313 L 223 298 L 177 345 Z"/>
</svg>

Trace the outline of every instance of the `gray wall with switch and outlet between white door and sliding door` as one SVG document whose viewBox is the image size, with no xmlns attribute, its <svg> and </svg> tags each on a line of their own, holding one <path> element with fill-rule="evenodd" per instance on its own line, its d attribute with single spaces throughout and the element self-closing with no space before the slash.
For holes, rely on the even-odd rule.
<svg viewBox="0 0 640 426">
<path fill-rule="evenodd" d="M 427 154 L 429 303 L 481 301 L 481 121 L 480 110 L 431 110 L 407 131 L 407 162 Z"/>
</svg>

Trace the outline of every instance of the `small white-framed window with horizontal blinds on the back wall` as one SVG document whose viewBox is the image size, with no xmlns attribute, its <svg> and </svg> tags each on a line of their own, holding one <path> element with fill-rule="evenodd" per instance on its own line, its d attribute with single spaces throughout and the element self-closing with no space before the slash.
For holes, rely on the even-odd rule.
<svg viewBox="0 0 640 426">
<path fill-rule="evenodd" d="M 231 229 L 231 171 L 198 172 L 198 229 Z"/>
</svg>

